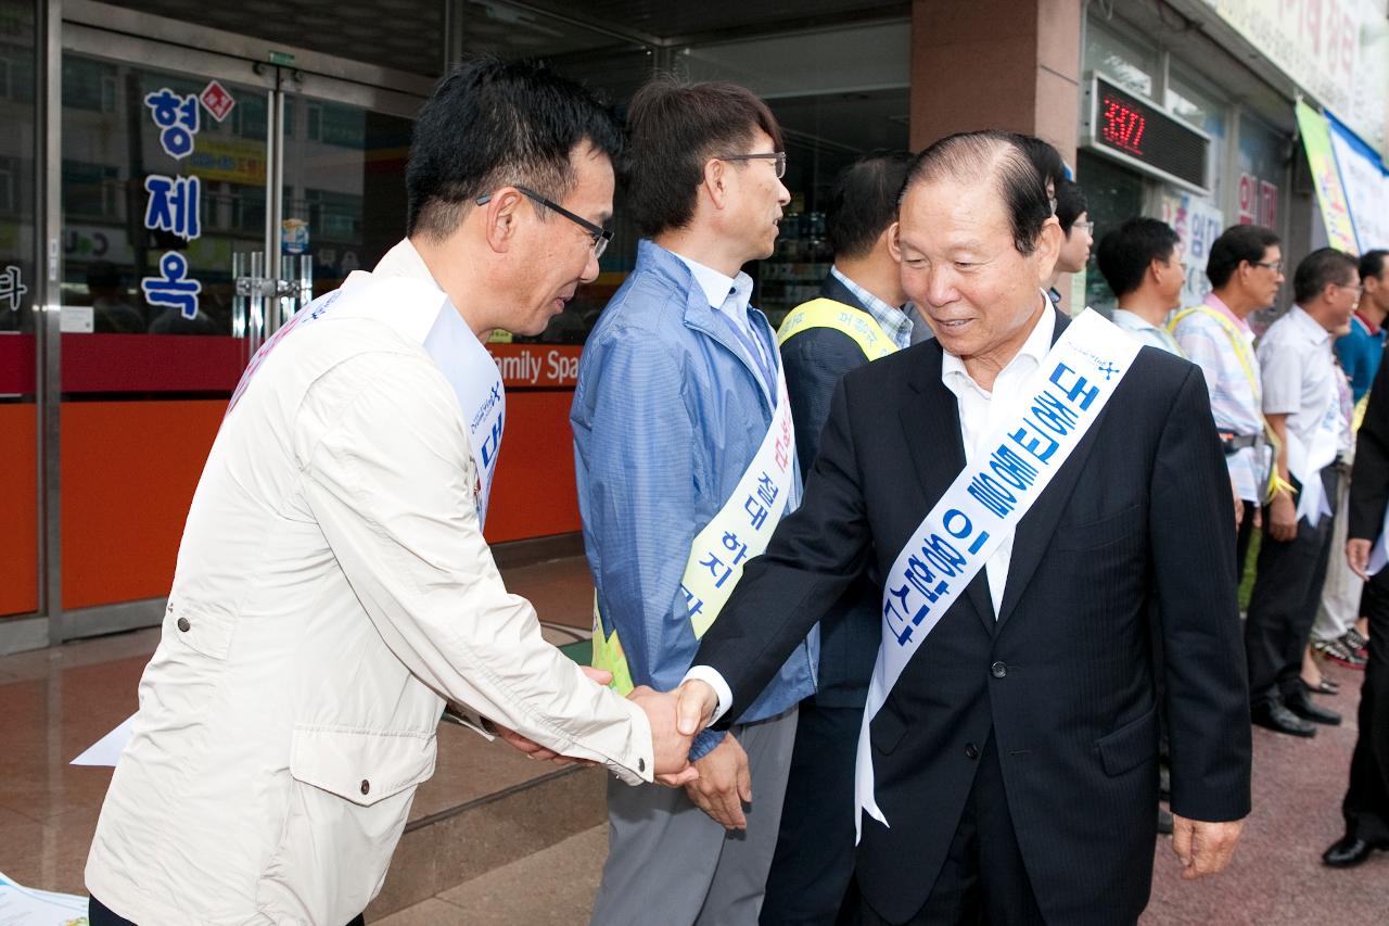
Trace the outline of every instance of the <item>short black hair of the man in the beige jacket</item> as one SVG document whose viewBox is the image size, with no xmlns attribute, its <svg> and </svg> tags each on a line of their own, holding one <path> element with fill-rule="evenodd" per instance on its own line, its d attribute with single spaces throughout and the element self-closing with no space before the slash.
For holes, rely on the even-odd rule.
<svg viewBox="0 0 1389 926">
<path fill-rule="evenodd" d="M 569 154 L 583 142 L 619 167 L 622 127 L 585 88 L 539 61 L 460 64 L 415 120 L 407 234 L 444 238 L 476 197 L 504 185 L 563 202 L 575 182 Z"/>
</svg>

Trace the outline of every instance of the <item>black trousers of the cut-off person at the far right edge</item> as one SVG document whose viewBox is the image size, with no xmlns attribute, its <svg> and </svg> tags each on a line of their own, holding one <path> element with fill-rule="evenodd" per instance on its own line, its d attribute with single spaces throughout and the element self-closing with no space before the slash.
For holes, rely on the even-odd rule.
<svg viewBox="0 0 1389 926">
<path fill-rule="evenodd" d="M 1389 843 L 1389 570 L 1365 584 L 1370 660 L 1360 687 L 1360 736 L 1350 758 L 1350 787 L 1340 812 L 1346 831 Z"/>
</svg>

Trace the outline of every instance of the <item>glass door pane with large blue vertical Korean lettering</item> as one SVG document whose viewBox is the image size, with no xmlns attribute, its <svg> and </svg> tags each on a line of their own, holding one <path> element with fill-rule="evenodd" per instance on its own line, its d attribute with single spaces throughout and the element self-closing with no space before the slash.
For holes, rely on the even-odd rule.
<svg viewBox="0 0 1389 926">
<path fill-rule="evenodd" d="M 207 79 L 64 56 L 63 304 L 92 331 L 231 334 L 232 253 L 265 241 L 265 92 L 221 85 L 218 127 Z"/>
</svg>

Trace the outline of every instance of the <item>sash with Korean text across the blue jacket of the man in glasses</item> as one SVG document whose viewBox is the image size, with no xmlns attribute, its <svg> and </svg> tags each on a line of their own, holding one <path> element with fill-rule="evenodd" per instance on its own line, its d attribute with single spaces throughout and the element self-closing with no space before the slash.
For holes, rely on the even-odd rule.
<svg viewBox="0 0 1389 926">
<path fill-rule="evenodd" d="M 790 496 L 796 464 L 796 431 L 786 393 L 786 374 L 776 371 L 776 409 L 761 446 L 738 487 L 690 544 L 681 594 L 694 637 L 703 637 L 724 610 L 743 576 L 743 564 L 767 551 Z"/>
</svg>

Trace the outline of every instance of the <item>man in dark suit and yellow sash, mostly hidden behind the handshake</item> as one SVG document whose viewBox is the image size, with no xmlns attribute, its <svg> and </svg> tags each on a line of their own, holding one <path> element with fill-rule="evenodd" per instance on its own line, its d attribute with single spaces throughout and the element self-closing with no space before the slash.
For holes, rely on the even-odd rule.
<svg viewBox="0 0 1389 926">
<path fill-rule="evenodd" d="M 782 323 L 782 363 L 804 477 L 820 449 L 839 378 L 911 343 L 897 260 L 897 195 L 910 152 L 868 154 L 829 190 L 835 263 L 820 298 Z M 881 637 L 882 591 L 860 577 L 820 622 L 820 684 L 800 705 L 763 926 L 835 922 L 854 870 L 854 747 Z"/>
</svg>

